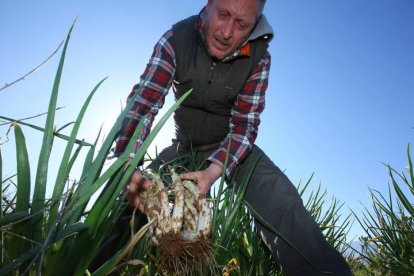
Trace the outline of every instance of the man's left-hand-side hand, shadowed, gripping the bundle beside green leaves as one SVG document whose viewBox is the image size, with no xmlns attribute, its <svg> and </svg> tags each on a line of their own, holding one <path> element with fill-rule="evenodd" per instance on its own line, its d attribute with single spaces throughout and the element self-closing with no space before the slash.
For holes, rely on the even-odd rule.
<svg viewBox="0 0 414 276">
<path fill-rule="evenodd" d="M 151 181 L 146 179 L 139 171 L 135 171 L 132 174 L 129 184 L 124 190 L 125 196 L 128 198 L 129 204 L 132 208 L 138 208 L 142 213 L 144 213 L 144 204 L 139 198 L 139 193 L 142 190 L 148 189 L 150 185 Z"/>
</svg>

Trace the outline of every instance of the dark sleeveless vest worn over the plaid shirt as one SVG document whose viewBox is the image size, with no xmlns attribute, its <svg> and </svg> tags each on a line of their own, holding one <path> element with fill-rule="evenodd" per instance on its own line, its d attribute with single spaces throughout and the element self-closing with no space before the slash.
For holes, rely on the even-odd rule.
<svg viewBox="0 0 414 276">
<path fill-rule="evenodd" d="M 176 137 L 183 145 L 221 142 L 229 133 L 231 109 L 250 72 L 264 56 L 268 43 L 250 43 L 250 56 L 213 64 L 197 28 L 198 16 L 173 26 L 176 72 L 173 89 L 178 99 L 193 91 L 175 111 Z"/>
</svg>

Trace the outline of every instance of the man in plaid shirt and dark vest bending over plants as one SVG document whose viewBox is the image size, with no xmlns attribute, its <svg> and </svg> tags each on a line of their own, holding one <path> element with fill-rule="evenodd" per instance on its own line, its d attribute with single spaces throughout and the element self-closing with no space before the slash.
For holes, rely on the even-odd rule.
<svg viewBox="0 0 414 276">
<path fill-rule="evenodd" d="M 306 257 L 256 220 L 284 274 L 351 275 L 345 260 L 325 241 L 303 207 L 295 187 L 254 145 L 270 70 L 267 47 L 273 37 L 262 14 L 264 5 L 265 0 L 208 0 L 198 16 L 167 31 L 155 45 L 140 85 L 128 99 L 134 104 L 115 154 L 124 151 L 138 122 L 147 115 L 135 145 L 135 150 L 139 148 L 171 87 L 176 98 L 193 88 L 174 114 L 176 139 L 161 152 L 160 159 L 168 162 L 176 157 L 177 149 L 182 153 L 192 147 L 201 152 L 206 169 L 181 178 L 195 180 L 200 192 L 206 194 L 223 170 L 228 180 L 236 168 L 243 171 L 259 158 L 245 201 Z M 132 98 L 138 87 L 142 89 Z M 235 177 L 236 183 L 240 182 L 240 177 Z M 137 192 L 148 184 L 138 171 L 131 177 L 127 188 L 133 207 L 143 210 Z"/>
</svg>

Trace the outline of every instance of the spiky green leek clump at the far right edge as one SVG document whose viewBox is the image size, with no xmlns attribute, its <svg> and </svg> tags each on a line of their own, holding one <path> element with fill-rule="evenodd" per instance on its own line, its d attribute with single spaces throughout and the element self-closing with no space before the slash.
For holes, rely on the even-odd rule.
<svg viewBox="0 0 414 276">
<path fill-rule="evenodd" d="M 365 230 L 357 275 L 414 274 L 414 172 L 407 148 L 408 175 L 387 165 L 388 195 L 370 190 L 372 211 L 357 218 Z"/>
</svg>

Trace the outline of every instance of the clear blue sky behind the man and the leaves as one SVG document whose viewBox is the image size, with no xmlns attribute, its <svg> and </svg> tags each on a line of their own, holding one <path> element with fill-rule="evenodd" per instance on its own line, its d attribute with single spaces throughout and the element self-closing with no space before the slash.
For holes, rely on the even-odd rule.
<svg viewBox="0 0 414 276">
<path fill-rule="evenodd" d="M 272 68 L 257 144 L 294 183 L 315 172 L 314 186 L 321 182 L 328 197 L 344 202 L 345 213 L 348 208 L 359 213 L 361 203 L 370 206 L 368 187 L 387 191 L 381 162 L 403 171 L 407 144 L 414 141 L 414 1 L 267 2 L 265 14 L 276 35 L 269 48 Z M 102 123 L 105 129 L 113 123 L 158 38 L 205 3 L 3 0 L 0 84 L 43 61 L 78 17 L 58 100 L 65 108 L 56 122 L 60 127 L 74 120 L 94 85 L 109 76 L 80 135 L 93 141 Z M 1 91 L 0 115 L 45 112 L 57 63 L 55 56 L 25 81 Z M 166 107 L 171 103 L 170 95 Z M 43 125 L 44 118 L 32 122 Z M 1 143 L 6 131 L 0 127 Z M 41 138 L 24 131 L 35 163 Z M 172 135 L 170 122 L 157 147 L 168 145 Z M 56 160 L 60 145 L 53 153 Z M 14 142 L 2 151 L 4 174 L 11 175 Z M 355 224 L 352 234 L 360 233 Z"/>
</svg>

